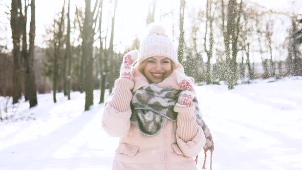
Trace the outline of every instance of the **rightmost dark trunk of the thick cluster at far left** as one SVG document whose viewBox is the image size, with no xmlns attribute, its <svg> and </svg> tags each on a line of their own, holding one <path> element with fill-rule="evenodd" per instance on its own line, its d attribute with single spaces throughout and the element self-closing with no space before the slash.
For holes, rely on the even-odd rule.
<svg viewBox="0 0 302 170">
<path fill-rule="evenodd" d="M 29 107 L 32 108 L 38 104 L 37 101 L 37 90 L 36 90 L 36 80 L 34 74 L 34 50 L 35 50 L 35 34 L 36 34 L 36 18 L 35 18 L 35 0 L 31 0 L 31 19 L 30 19 L 30 30 L 29 30 Z"/>
</svg>

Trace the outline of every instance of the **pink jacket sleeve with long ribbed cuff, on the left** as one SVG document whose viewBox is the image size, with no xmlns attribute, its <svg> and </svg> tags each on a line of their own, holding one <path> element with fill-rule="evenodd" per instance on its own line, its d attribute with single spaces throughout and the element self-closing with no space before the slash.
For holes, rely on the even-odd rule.
<svg viewBox="0 0 302 170">
<path fill-rule="evenodd" d="M 115 89 L 102 115 L 102 128 L 110 136 L 122 137 L 130 130 L 133 87 L 131 80 L 119 78 L 115 81 Z"/>
</svg>

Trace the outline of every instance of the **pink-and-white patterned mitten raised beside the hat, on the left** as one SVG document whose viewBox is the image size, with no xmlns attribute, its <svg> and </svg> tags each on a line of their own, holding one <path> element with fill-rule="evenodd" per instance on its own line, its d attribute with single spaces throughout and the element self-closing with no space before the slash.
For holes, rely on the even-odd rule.
<svg viewBox="0 0 302 170">
<path fill-rule="evenodd" d="M 132 80 L 133 73 L 131 71 L 131 65 L 138 57 L 138 50 L 132 50 L 124 55 L 123 63 L 120 70 L 120 78 L 126 78 Z"/>
</svg>

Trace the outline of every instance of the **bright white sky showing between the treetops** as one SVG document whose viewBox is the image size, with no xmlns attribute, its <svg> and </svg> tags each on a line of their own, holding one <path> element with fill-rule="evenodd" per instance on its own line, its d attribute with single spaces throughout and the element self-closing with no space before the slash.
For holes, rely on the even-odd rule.
<svg viewBox="0 0 302 170">
<path fill-rule="evenodd" d="M 146 35 L 146 22 L 145 18 L 148 12 L 148 5 L 150 0 L 119 0 L 117 6 L 117 13 L 116 13 L 116 20 L 115 20 L 115 37 L 114 37 L 114 45 L 115 51 L 123 50 L 127 46 L 132 45 L 132 41 L 135 37 L 139 37 L 140 39 Z M 92 4 L 94 4 L 94 0 L 92 0 Z M 104 0 L 103 6 L 103 22 L 106 23 L 108 20 L 109 8 L 109 0 Z M 191 10 L 193 7 L 196 9 L 205 8 L 206 1 L 186 1 L 187 9 Z M 273 9 L 275 11 L 287 12 L 287 11 L 295 11 L 302 14 L 302 2 L 296 1 L 295 5 L 293 5 L 292 0 L 284 0 L 284 1 L 275 1 L 275 0 L 268 0 L 268 1 L 261 1 L 261 0 L 246 0 L 244 2 L 252 2 L 257 3 L 261 6 L 264 6 L 268 9 Z M 0 45 L 6 45 L 9 49 L 12 49 L 12 40 L 11 40 L 11 29 L 10 23 L 8 20 L 7 14 L 5 12 L 9 12 L 9 9 L 4 5 L 10 6 L 10 1 L 8 0 L 0 0 L 0 18 L 1 23 L 4 27 L 0 28 L 0 37 L 4 37 L 7 41 L 1 41 Z M 40 47 L 45 47 L 45 43 L 43 42 L 44 38 L 43 35 L 46 34 L 46 28 L 50 27 L 53 23 L 54 16 L 61 11 L 63 5 L 62 0 L 52 0 L 52 1 L 36 1 L 36 39 L 35 44 Z M 71 20 L 74 19 L 74 12 L 75 12 L 75 5 L 78 8 L 84 8 L 85 3 L 84 0 L 71 0 Z M 156 7 L 156 14 L 155 14 L 155 21 L 162 22 L 164 25 L 170 28 L 172 24 L 178 26 L 178 18 L 179 18 L 179 6 L 180 2 L 175 0 L 164 0 L 164 1 L 157 1 Z M 93 5 L 92 5 L 93 8 Z M 111 8 L 112 9 L 112 8 Z M 169 15 L 168 19 L 160 17 L 164 13 L 168 13 L 171 10 L 173 11 L 173 16 Z M 28 11 L 30 13 L 30 9 Z M 185 12 L 189 12 L 188 10 Z M 103 35 L 105 34 L 105 28 L 102 27 Z M 288 25 L 288 23 L 287 23 Z M 28 27 L 29 27 L 29 20 L 28 20 Z M 186 24 L 185 21 L 185 29 L 190 27 Z M 279 32 L 276 35 L 277 40 L 283 40 L 285 38 L 286 27 L 283 25 L 283 30 L 277 31 Z M 29 28 L 28 28 L 29 30 Z M 179 30 L 176 30 L 176 34 Z M 110 30 L 109 30 L 110 33 Z M 166 31 L 169 37 L 172 37 L 171 29 L 167 29 Z M 73 37 L 71 37 L 71 40 Z M 203 39 L 203 37 L 201 38 Z M 109 41 L 109 39 L 107 39 Z M 98 46 L 98 42 L 95 43 L 95 46 Z M 109 44 L 109 43 L 107 43 Z"/>
</svg>

